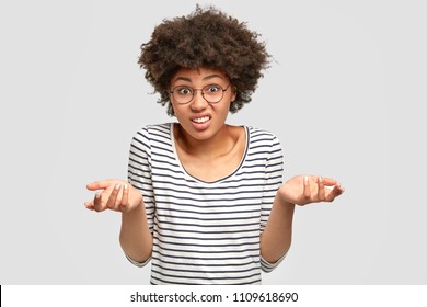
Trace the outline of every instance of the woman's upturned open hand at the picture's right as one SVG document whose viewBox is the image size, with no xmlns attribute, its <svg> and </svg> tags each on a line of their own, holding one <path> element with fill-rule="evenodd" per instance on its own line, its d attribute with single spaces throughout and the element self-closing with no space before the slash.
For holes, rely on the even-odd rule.
<svg viewBox="0 0 427 307">
<path fill-rule="evenodd" d="M 333 202 L 344 191 L 341 184 L 331 178 L 296 175 L 280 186 L 278 196 L 284 202 L 304 206 L 311 203 Z"/>
</svg>

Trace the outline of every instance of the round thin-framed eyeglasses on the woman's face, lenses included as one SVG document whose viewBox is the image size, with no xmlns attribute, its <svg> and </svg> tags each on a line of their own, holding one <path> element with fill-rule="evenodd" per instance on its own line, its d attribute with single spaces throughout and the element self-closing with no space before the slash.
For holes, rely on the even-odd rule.
<svg viewBox="0 0 427 307">
<path fill-rule="evenodd" d="M 171 94 L 173 99 L 178 104 L 187 104 L 189 103 L 196 93 L 197 90 L 201 91 L 201 96 L 208 102 L 208 103 L 218 103 L 221 101 L 224 91 L 227 91 L 230 88 L 231 82 L 227 86 L 226 89 L 221 88 L 221 86 L 218 84 L 208 84 L 206 87 L 203 87 L 201 89 L 192 89 L 186 86 L 177 86 L 172 89 Z"/>
</svg>

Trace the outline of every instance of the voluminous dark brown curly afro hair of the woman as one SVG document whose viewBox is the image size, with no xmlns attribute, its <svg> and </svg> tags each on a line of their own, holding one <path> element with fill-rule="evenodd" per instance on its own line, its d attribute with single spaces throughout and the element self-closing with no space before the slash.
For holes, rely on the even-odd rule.
<svg viewBox="0 0 427 307">
<path fill-rule="evenodd" d="M 155 26 L 151 39 L 141 45 L 138 64 L 160 93 L 162 105 L 170 102 L 170 80 L 180 68 L 223 71 L 236 89 L 236 99 L 230 104 L 230 112 L 235 113 L 251 101 L 262 70 L 269 64 L 259 36 L 214 7 L 197 5 L 189 15 L 163 20 Z M 168 114 L 174 115 L 171 103 Z"/>
</svg>

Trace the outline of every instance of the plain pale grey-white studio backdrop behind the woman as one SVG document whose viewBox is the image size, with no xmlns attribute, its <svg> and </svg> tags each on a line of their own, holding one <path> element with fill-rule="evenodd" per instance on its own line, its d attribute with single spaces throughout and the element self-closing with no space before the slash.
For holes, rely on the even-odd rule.
<svg viewBox="0 0 427 307">
<path fill-rule="evenodd" d="M 285 180 L 347 189 L 297 208 L 264 284 L 426 284 L 427 46 L 423 1 L 197 1 L 262 34 L 275 62 L 229 117 L 275 133 Z M 126 178 L 130 139 L 173 121 L 137 59 L 196 1 L 0 1 L 0 284 L 148 284 L 118 245 L 119 214 L 85 184 Z"/>
</svg>

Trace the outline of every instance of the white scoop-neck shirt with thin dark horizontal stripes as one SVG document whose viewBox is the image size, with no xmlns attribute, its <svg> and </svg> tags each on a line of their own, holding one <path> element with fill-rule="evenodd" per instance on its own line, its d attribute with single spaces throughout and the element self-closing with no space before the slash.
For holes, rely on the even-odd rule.
<svg viewBox="0 0 427 307">
<path fill-rule="evenodd" d="M 128 180 L 143 195 L 153 235 L 151 284 L 261 284 L 276 263 L 259 254 L 276 191 L 282 182 L 280 143 L 244 127 L 239 167 L 204 182 L 187 173 L 175 149 L 173 124 L 147 126 L 130 145 Z"/>
</svg>

